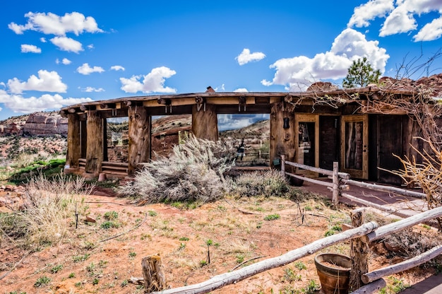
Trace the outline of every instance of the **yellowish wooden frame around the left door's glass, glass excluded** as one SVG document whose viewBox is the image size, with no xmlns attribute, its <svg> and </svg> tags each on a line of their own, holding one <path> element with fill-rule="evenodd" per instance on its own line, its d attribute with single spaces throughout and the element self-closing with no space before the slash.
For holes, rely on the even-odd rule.
<svg viewBox="0 0 442 294">
<path fill-rule="evenodd" d="M 314 122 L 315 123 L 315 166 L 319 167 L 319 114 L 295 114 L 294 115 L 294 146 L 295 146 L 295 160 L 299 161 L 299 122 Z M 305 175 L 306 177 L 318 177 L 318 172 L 311 172 L 310 170 L 300 170 L 297 168 L 297 174 Z"/>
</svg>

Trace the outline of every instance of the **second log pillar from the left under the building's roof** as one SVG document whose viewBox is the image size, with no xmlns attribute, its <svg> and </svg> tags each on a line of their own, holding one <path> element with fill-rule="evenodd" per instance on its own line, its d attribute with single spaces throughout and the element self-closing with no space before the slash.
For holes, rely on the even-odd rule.
<svg viewBox="0 0 442 294">
<path fill-rule="evenodd" d="M 98 176 L 103 162 L 103 120 L 100 112 L 88 112 L 85 172 Z"/>
</svg>

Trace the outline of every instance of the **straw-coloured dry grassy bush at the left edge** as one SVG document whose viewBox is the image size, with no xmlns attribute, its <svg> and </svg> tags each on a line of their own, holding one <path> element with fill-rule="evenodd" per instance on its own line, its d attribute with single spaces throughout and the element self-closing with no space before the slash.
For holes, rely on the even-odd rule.
<svg viewBox="0 0 442 294">
<path fill-rule="evenodd" d="M 90 194 L 93 187 L 85 187 L 80 177 L 32 177 L 25 186 L 23 204 L 0 215 L 0 241 L 9 240 L 31 250 L 59 242 L 68 231 L 69 221 L 75 220 L 76 211 L 87 210 L 80 193 Z"/>
</svg>

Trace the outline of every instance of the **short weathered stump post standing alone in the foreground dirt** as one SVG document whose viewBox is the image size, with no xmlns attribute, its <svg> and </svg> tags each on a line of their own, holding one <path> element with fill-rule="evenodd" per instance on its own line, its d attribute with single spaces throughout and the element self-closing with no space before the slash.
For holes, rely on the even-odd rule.
<svg viewBox="0 0 442 294">
<path fill-rule="evenodd" d="M 162 266 L 160 254 L 144 257 L 141 260 L 141 266 L 143 267 L 145 293 L 167 288 L 165 269 Z"/>
</svg>

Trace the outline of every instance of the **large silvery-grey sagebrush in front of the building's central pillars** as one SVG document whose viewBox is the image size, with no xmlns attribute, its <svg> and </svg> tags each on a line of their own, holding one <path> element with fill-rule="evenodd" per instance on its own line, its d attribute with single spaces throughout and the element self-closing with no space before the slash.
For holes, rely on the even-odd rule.
<svg viewBox="0 0 442 294">
<path fill-rule="evenodd" d="M 235 148 L 228 143 L 190 136 L 174 146 L 169 158 L 143 164 L 135 179 L 118 192 L 140 203 L 214 201 L 228 190 L 223 173 L 234 165 L 235 156 Z"/>
</svg>

